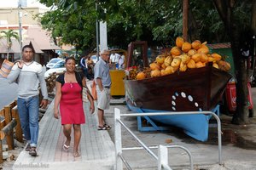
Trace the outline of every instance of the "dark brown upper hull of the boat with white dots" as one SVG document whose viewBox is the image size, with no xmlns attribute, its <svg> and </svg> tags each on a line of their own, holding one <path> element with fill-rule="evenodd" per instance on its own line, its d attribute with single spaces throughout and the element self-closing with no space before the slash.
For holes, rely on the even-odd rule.
<svg viewBox="0 0 256 170">
<path fill-rule="evenodd" d="M 210 111 L 222 98 L 231 75 L 212 66 L 163 77 L 125 80 L 133 105 L 158 111 Z"/>
</svg>

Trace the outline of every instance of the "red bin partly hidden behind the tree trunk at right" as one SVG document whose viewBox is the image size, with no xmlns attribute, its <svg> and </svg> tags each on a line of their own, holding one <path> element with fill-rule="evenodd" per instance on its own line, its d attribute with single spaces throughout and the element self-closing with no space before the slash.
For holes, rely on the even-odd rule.
<svg viewBox="0 0 256 170">
<path fill-rule="evenodd" d="M 247 88 L 248 88 L 249 116 L 253 116 L 253 98 L 252 98 L 252 88 L 251 88 L 250 82 L 247 82 Z M 228 82 L 225 90 L 225 97 L 228 105 L 228 110 L 230 112 L 236 111 L 236 82 Z"/>
</svg>

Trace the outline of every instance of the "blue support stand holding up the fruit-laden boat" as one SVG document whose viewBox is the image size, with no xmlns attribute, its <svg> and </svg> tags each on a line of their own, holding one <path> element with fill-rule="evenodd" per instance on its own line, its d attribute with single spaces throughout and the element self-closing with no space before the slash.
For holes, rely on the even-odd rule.
<svg viewBox="0 0 256 170">
<path fill-rule="evenodd" d="M 219 117 L 219 105 L 216 105 L 216 107 L 214 109 L 212 109 L 212 112 L 214 112 Z M 209 119 L 210 118 L 211 117 L 209 117 Z M 145 123 L 145 121 L 146 121 L 146 123 Z M 146 126 L 143 126 L 144 124 L 146 124 Z M 209 123 L 209 127 L 217 127 L 217 122 Z M 170 127 L 157 125 L 148 116 L 137 116 L 137 128 L 140 132 L 170 130 Z"/>
</svg>

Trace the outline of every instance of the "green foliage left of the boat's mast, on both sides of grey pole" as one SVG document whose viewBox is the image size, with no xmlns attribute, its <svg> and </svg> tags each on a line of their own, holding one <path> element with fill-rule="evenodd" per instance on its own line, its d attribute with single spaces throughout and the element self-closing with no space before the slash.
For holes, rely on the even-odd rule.
<svg viewBox="0 0 256 170">
<path fill-rule="evenodd" d="M 170 1 L 65 1 L 41 0 L 54 5 L 42 17 L 42 26 L 62 37 L 63 42 L 77 44 L 77 48 L 96 47 L 96 18 L 108 22 L 110 47 L 127 48 L 131 41 L 144 40 L 152 45 L 173 42 L 173 34 L 180 35 L 182 22 L 177 0 Z M 98 8 L 96 10 L 96 3 Z M 163 5 L 163 3 L 165 5 Z M 148 15 L 149 14 L 149 15 Z M 178 32 L 179 31 L 179 32 Z M 178 33 L 177 33 L 178 32 Z"/>
</svg>

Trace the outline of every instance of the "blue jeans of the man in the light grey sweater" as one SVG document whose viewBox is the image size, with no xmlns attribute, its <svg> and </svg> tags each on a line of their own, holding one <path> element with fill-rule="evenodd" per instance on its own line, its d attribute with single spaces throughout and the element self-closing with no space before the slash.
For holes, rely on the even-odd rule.
<svg viewBox="0 0 256 170">
<path fill-rule="evenodd" d="M 37 147 L 39 98 L 38 96 L 32 96 L 28 99 L 18 98 L 17 103 L 20 124 L 25 138 L 31 141 L 32 147 Z"/>
</svg>

